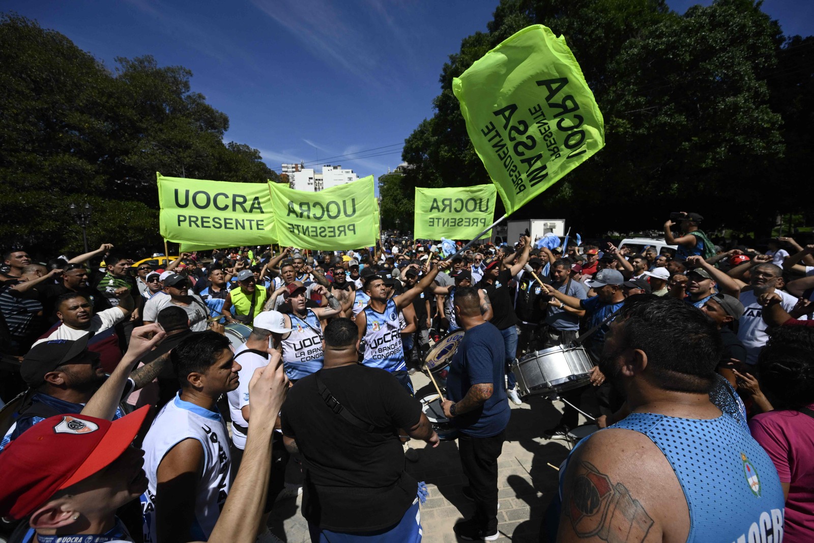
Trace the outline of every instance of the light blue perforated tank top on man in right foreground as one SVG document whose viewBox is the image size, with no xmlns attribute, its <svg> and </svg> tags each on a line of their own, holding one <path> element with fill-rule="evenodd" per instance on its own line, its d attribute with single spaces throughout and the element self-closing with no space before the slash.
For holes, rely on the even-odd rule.
<svg viewBox="0 0 814 543">
<path fill-rule="evenodd" d="M 688 542 L 781 541 L 786 500 L 777 470 L 728 414 L 702 420 L 632 413 L 610 428 L 644 434 L 670 462 L 689 508 Z"/>
</svg>

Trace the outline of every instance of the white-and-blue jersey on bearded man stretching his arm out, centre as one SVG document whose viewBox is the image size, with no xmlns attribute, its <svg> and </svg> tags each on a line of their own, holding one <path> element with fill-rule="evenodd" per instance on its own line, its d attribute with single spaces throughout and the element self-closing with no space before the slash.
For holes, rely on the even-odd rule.
<svg viewBox="0 0 814 543">
<path fill-rule="evenodd" d="M 387 300 L 384 313 L 376 313 L 370 305 L 365 308 L 367 328 L 365 337 L 362 338 L 365 340 L 363 365 L 387 371 L 405 369 L 398 313 L 393 300 Z"/>
</svg>

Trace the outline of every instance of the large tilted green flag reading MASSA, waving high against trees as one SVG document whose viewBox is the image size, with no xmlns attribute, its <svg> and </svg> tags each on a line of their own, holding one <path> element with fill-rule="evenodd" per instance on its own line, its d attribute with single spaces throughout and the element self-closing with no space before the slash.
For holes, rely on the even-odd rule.
<svg viewBox="0 0 814 543">
<path fill-rule="evenodd" d="M 466 131 L 506 215 L 605 145 L 605 125 L 580 65 L 549 28 L 535 24 L 453 79 Z"/>
</svg>

